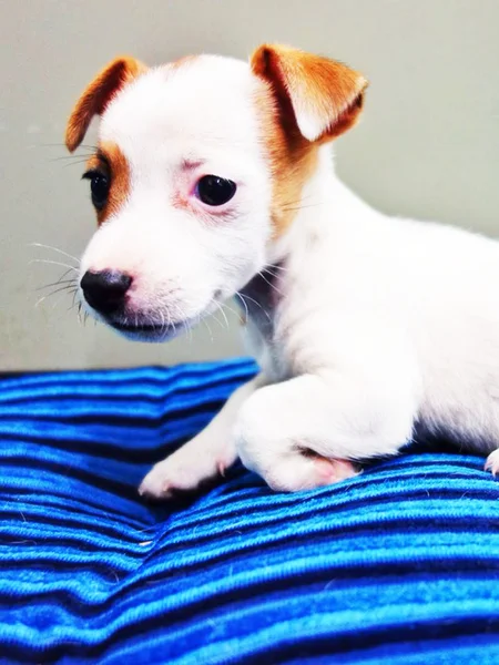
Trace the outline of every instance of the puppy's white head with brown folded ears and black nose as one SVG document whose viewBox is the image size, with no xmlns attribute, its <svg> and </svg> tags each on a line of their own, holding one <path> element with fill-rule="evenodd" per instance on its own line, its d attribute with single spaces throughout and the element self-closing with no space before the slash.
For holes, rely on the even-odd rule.
<svg viewBox="0 0 499 665">
<path fill-rule="evenodd" d="M 286 47 L 261 47 L 249 64 L 111 62 L 65 136 L 73 152 L 101 116 L 84 174 L 99 222 L 81 262 L 93 314 L 161 340 L 236 294 L 275 259 L 318 146 L 355 123 L 365 88 L 344 64 Z"/>
</svg>

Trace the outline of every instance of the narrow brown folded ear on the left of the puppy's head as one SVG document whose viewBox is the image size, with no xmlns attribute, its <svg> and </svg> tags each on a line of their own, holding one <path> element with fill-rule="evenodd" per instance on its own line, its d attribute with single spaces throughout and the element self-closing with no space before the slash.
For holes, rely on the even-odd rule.
<svg viewBox="0 0 499 665">
<path fill-rule="evenodd" d="M 146 71 L 134 58 L 122 57 L 110 62 L 90 83 L 77 102 L 65 127 L 65 145 L 70 152 L 83 141 L 94 115 L 101 115 L 123 85 Z"/>
</svg>

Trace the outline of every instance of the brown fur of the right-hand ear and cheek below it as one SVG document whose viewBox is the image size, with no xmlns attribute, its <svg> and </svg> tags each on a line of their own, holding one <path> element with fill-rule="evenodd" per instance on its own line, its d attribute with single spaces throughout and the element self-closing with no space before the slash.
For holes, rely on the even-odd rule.
<svg viewBox="0 0 499 665">
<path fill-rule="evenodd" d="M 271 162 L 272 218 L 278 236 L 302 204 L 303 187 L 317 165 L 317 147 L 357 121 L 367 81 L 339 62 L 288 47 L 263 45 L 251 64 L 264 83 L 255 101 Z M 314 142 L 298 129 L 301 110 L 324 120 L 324 132 Z"/>
</svg>

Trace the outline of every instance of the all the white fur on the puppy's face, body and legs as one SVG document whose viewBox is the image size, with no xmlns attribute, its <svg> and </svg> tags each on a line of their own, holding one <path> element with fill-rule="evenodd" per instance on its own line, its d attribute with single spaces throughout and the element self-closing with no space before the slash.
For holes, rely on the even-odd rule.
<svg viewBox="0 0 499 665">
<path fill-rule="evenodd" d="M 140 78 L 102 120 L 101 137 L 130 163 L 131 196 L 96 232 L 82 269 L 133 273 L 139 317 L 196 320 L 278 263 L 277 304 L 247 326 L 262 375 L 141 491 L 197 487 L 237 456 L 278 490 L 334 482 L 355 472 L 346 460 L 397 453 L 417 421 L 493 451 L 499 244 L 371 209 L 337 180 L 327 146 L 306 205 L 271 242 L 255 85 L 247 65 L 203 57 Z M 205 165 L 186 175 L 185 160 Z M 230 223 L 173 207 L 204 173 L 237 181 Z M 488 466 L 499 470 L 497 451 Z"/>
</svg>

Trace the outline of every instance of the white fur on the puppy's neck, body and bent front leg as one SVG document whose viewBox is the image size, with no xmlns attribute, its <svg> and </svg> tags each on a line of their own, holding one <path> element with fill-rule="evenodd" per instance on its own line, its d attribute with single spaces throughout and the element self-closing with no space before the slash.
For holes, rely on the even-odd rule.
<svg viewBox="0 0 499 665">
<path fill-rule="evenodd" d="M 277 473 L 281 489 L 312 487 L 314 475 L 276 463 L 295 463 L 293 442 L 368 459 L 396 453 L 416 421 L 495 450 L 499 244 L 381 215 L 336 178 L 327 149 L 304 196 L 281 247 L 284 297 L 264 367 L 276 385 L 247 400 L 237 426 L 246 466 Z M 488 468 L 499 471 L 497 452 Z"/>
</svg>

